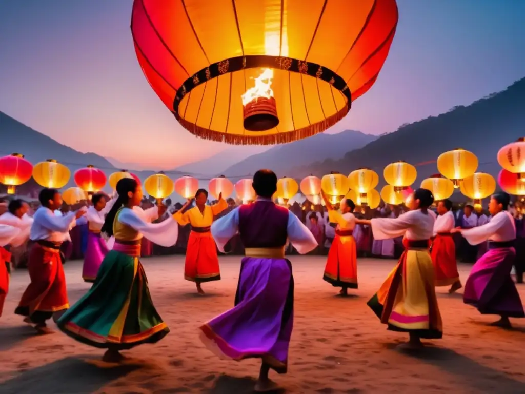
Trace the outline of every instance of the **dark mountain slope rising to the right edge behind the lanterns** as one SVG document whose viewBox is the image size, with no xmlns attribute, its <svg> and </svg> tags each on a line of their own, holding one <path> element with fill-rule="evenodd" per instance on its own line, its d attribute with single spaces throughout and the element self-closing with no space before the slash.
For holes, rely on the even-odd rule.
<svg viewBox="0 0 525 394">
<path fill-rule="evenodd" d="M 330 171 L 348 174 L 359 167 L 370 167 L 383 180 L 384 167 L 393 161 L 404 160 L 414 165 L 427 162 L 417 165 L 418 179 L 414 185 L 418 185 L 428 175 L 437 173 L 435 160 L 440 153 L 464 148 L 478 156 L 478 171 L 496 177 L 501 169 L 498 150 L 525 134 L 524 108 L 525 78 L 469 106 L 457 106 L 442 115 L 403 125 L 361 149 L 348 151 L 339 160 L 296 167 L 288 176 L 301 178 L 310 173 L 321 176 Z"/>
</svg>

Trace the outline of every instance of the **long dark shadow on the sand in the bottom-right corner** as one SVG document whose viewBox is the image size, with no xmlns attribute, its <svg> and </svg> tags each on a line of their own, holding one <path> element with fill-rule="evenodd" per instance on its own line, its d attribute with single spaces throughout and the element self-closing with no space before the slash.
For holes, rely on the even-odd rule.
<svg viewBox="0 0 525 394">
<path fill-rule="evenodd" d="M 396 344 L 389 344 L 388 348 L 395 346 Z M 423 350 L 402 352 L 449 374 L 457 375 L 465 385 L 480 392 L 487 392 L 491 386 L 497 386 L 498 392 L 508 394 L 525 392 L 525 383 L 510 378 L 504 372 L 481 365 L 451 349 L 427 346 Z"/>
</svg>

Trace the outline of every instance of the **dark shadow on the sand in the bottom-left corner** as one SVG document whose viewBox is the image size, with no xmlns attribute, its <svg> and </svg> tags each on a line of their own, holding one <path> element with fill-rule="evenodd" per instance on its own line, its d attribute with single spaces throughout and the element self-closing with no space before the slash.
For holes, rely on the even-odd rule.
<svg viewBox="0 0 525 394">
<path fill-rule="evenodd" d="M 76 393 L 89 394 L 113 380 L 129 374 L 140 366 L 117 365 L 99 367 L 89 359 L 64 358 L 22 372 L 0 384 L 0 392 L 31 394 Z M 69 378 L 64 378 L 64 377 Z M 74 377 L 74 378 L 72 378 Z"/>
</svg>

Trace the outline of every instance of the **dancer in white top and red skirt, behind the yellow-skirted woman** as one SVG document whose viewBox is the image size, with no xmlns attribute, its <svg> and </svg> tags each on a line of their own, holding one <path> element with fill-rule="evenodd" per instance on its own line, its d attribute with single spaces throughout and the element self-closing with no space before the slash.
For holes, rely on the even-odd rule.
<svg viewBox="0 0 525 394">
<path fill-rule="evenodd" d="M 451 285 L 448 289 L 450 294 L 461 288 L 456 263 L 456 244 L 450 232 L 454 229 L 456 222 L 451 209 L 452 202 L 448 199 L 437 203 L 438 216 L 434 223 L 432 246 L 430 246 L 436 286 Z"/>
</svg>

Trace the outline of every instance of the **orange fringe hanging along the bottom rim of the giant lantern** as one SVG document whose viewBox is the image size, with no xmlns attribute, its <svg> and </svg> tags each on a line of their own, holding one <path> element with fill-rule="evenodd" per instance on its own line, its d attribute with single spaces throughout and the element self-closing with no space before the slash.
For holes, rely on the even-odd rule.
<svg viewBox="0 0 525 394">
<path fill-rule="evenodd" d="M 276 134 L 265 134 L 261 136 L 228 134 L 225 132 L 209 130 L 204 127 L 194 125 L 194 123 L 188 122 L 182 118 L 179 118 L 178 121 L 186 130 L 190 131 L 197 138 L 216 142 L 225 142 L 230 145 L 274 145 L 293 142 L 319 134 L 343 119 L 346 116 L 346 113 L 348 113 L 348 110 L 349 108 L 345 106 L 334 115 L 301 129 Z"/>
</svg>

